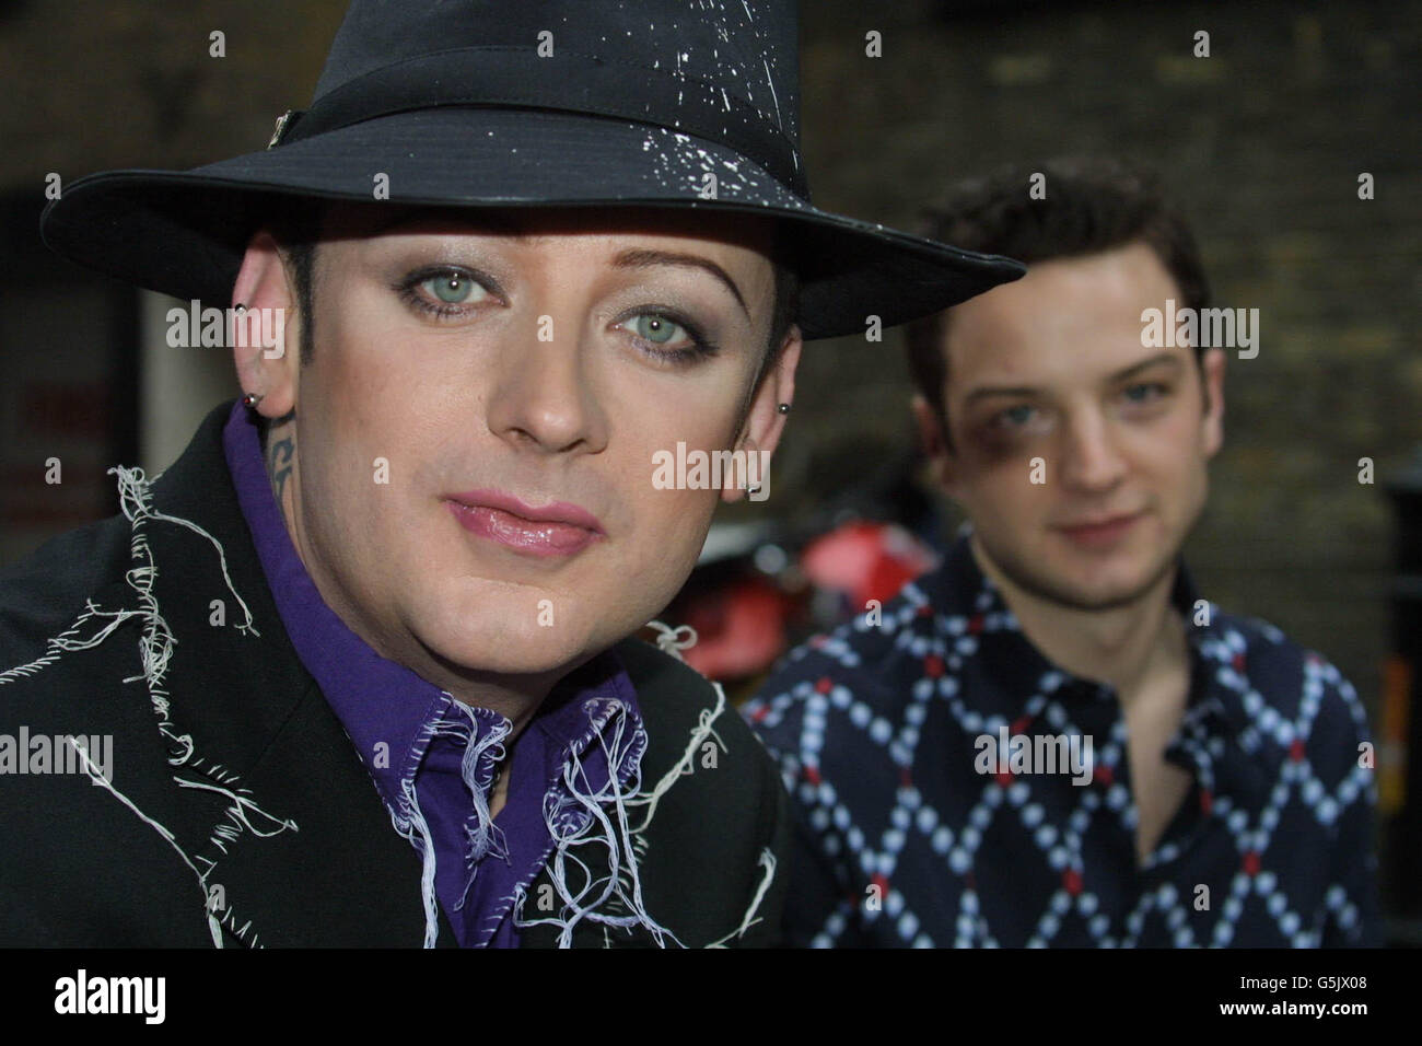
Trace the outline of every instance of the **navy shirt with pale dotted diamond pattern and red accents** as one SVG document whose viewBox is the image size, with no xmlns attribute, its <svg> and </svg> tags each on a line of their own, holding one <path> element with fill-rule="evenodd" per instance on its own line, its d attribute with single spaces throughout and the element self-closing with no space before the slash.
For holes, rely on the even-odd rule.
<svg viewBox="0 0 1422 1046">
<path fill-rule="evenodd" d="M 795 800 L 786 935 L 811 946 L 1378 945 L 1361 702 L 1199 601 L 1165 757 L 1190 791 L 1145 864 L 1115 692 L 1048 662 L 978 569 L 943 566 L 792 650 L 745 714 Z"/>
</svg>

